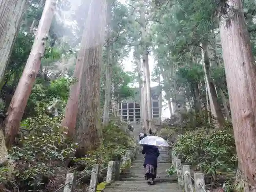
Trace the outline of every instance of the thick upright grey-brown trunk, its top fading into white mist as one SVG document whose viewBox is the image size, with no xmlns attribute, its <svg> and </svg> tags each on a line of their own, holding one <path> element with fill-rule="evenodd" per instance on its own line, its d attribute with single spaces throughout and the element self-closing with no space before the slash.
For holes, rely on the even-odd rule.
<svg viewBox="0 0 256 192">
<path fill-rule="evenodd" d="M 100 73 L 106 25 L 106 0 L 91 2 L 87 18 L 86 50 L 80 82 L 75 141 L 84 151 L 100 145 Z"/>
</svg>

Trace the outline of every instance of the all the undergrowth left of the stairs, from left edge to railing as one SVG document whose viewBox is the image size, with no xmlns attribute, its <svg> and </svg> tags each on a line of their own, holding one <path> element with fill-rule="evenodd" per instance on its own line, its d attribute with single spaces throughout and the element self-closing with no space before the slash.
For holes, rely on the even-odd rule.
<svg viewBox="0 0 256 192">
<path fill-rule="evenodd" d="M 9 161 L 13 163 L 11 167 L 0 166 L 0 183 L 6 189 L 54 191 L 65 181 L 67 173 L 79 177 L 89 173 L 93 164 L 105 167 L 135 146 L 133 138 L 120 128 L 122 123 L 111 122 L 102 130 L 103 141 L 98 150 L 76 158 L 77 144 L 63 135 L 62 118 L 62 115 L 49 117 L 40 108 L 36 117 L 20 124 L 19 135 L 9 151 Z"/>
</svg>

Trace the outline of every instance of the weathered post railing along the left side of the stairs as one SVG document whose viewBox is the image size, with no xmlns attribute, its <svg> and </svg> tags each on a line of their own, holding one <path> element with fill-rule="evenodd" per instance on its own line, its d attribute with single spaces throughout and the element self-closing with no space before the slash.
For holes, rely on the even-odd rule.
<svg viewBox="0 0 256 192">
<path fill-rule="evenodd" d="M 114 181 L 118 181 L 120 179 L 120 173 L 122 168 L 127 163 L 131 163 L 132 160 L 135 158 L 135 155 L 138 152 L 138 148 L 134 148 L 134 150 L 127 152 L 121 161 L 109 161 L 107 167 L 100 169 L 98 164 L 93 165 L 92 171 L 86 175 L 83 175 L 79 179 L 77 179 L 75 174 L 67 174 L 65 184 L 60 186 L 57 191 L 63 192 L 74 192 L 76 185 L 84 178 L 91 175 L 90 185 L 89 185 L 89 192 L 96 192 L 98 183 L 99 174 L 102 170 L 108 169 L 106 173 L 106 180 L 104 181 L 106 184 L 110 184 Z"/>
</svg>

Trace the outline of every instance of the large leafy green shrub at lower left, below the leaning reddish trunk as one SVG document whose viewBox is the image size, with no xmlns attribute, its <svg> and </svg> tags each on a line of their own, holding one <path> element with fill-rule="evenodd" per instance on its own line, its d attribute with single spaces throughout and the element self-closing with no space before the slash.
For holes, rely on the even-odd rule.
<svg viewBox="0 0 256 192">
<path fill-rule="evenodd" d="M 20 133 L 9 151 L 16 166 L 11 173 L 19 188 L 37 191 L 59 172 L 58 164 L 72 159 L 76 144 L 68 143 L 60 128 L 62 116 L 51 118 L 44 109 L 20 124 Z M 2 173 L 0 174 L 2 175 Z"/>
</svg>

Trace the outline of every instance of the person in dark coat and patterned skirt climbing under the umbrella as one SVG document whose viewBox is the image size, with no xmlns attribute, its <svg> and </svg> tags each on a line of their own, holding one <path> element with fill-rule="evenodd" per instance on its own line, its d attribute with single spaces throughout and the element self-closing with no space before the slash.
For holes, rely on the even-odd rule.
<svg viewBox="0 0 256 192">
<path fill-rule="evenodd" d="M 145 179 L 150 184 L 154 184 L 154 180 L 157 176 L 157 158 L 160 155 L 157 146 L 143 145 L 142 154 L 145 154 L 144 168 Z"/>
</svg>

